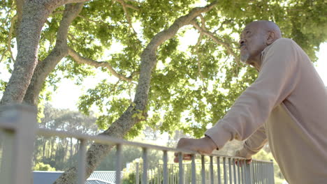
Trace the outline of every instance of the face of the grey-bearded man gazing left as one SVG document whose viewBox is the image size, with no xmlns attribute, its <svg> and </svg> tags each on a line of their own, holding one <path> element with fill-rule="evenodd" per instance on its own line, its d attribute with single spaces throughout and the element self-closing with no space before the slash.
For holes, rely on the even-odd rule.
<svg viewBox="0 0 327 184">
<path fill-rule="evenodd" d="M 249 24 L 240 36 L 240 55 L 243 63 L 251 63 L 261 56 L 266 47 L 263 29 L 259 24 Z"/>
</svg>

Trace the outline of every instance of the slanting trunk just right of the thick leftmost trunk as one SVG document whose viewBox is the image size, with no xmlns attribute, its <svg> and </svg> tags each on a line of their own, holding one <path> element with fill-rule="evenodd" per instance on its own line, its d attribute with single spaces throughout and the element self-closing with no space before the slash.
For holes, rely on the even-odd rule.
<svg viewBox="0 0 327 184">
<path fill-rule="evenodd" d="M 75 17 L 78 16 L 78 13 L 80 13 L 82 7 L 83 3 L 77 3 L 75 5 L 67 4 L 65 6 L 64 15 L 57 31 L 56 45 L 54 45 L 54 48 L 50 54 L 36 66 L 34 75 L 31 79 L 31 84 L 29 84 L 27 93 L 24 96 L 24 102 L 31 105 L 38 104 L 38 95 L 41 91 L 45 78 L 48 77 L 52 70 L 54 70 L 57 63 L 59 63 L 59 61 L 61 61 L 61 59 L 68 54 L 68 28 Z"/>
</svg>

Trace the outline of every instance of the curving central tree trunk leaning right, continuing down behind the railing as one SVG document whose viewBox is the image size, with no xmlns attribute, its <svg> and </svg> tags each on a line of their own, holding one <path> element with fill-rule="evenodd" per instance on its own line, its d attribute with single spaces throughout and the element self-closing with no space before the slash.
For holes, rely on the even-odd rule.
<svg viewBox="0 0 327 184">
<path fill-rule="evenodd" d="M 133 117 L 133 114 L 139 114 L 140 112 L 145 112 L 145 107 L 147 105 L 148 93 L 150 89 L 150 80 L 152 70 L 157 63 L 156 51 L 157 47 L 161 45 L 164 41 L 175 36 L 177 31 L 187 24 L 190 24 L 191 20 L 200 15 L 201 13 L 208 12 L 211 10 L 217 1 L 211 3 L 209 6 L 203 8 L 194 8 L 189 14 L 179 17 L 173 25 L 168 29 L 157 33 L 154 38 L 150 41 L 147 47 L 143 50 L 141 54 L 141 66 L 140 66 L 140 78 L 138 80 L 138 87 L 136 89 L 136 95 L 134 98 L 134 105 L 131 105 L 126 111 L 120 116 L 117 121 L 110 125 L 110 128 L 101 135 L 109 135 L 111 137 L 123 138 L 126 132 L 131 130 L 133 125 L 142 121 L 142 119 Z M 144 113 L 143 113 L 144 114 Z M 145 114 L 144 114 L 145 115 Z M 106 144 L 92 144 L 92 146 L 87 151 L 87 170 L 86 178 L 88 178 L 94 169 L 98 166 L 101 159 L 107 155 L 112 146 Z M 62 174 L 54 184 L 73 184 L 76 183 L 76 167 L 71 167 Z"/>
</svg>

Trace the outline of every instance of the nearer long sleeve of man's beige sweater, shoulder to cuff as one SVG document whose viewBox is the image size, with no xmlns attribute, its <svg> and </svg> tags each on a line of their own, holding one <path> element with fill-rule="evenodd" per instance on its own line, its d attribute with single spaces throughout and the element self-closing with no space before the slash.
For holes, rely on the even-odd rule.
<svg viewBox="0 0 327 184">
<path fill-rule="evenodd" d="M 298 82 L 296 47 L 287 38 L 279 38 L 269 46 L 256 81 L 240 95 L 224 118 L 205 132 L 218 149 L 232 139 L 247 139 L 293 91 Z"/>
</svg>

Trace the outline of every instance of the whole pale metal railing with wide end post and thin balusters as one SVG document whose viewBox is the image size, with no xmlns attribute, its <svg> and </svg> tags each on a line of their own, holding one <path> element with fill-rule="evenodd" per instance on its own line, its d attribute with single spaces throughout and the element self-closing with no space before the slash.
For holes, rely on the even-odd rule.
<svg viewBox="0 0 327 184">
<path fill-rule="evenodd" d="M 122 183 L 122 146 L 136 146 L 143 149 L 143 164 L 136 167 L 136 184 L 175 183 L 274 183 L 273 162 L 253 160 L 245 164 L 245 158 L 226 155 L 201 155 L 201 163 L 196 163 L 196 152 L 155 146 L 113 137 L 83 135 L 57 130 L 37 128 L 37 110 L 27 105 L 6 105 L 0 107 L 0 132 L 2 140 L 0 181 L 3 184 L 32 183 L 31 158 L 36 135 L 45 137 L 74 137 L 80 141 L 78 151 L 78 184 L 85 183 L 86 142 L 111 144 L 116 147 L 116 183 Z M 148 151 L 162 151 L 163 164 L 156 171 L 148 163 Z M 179 163 L 168 164 L 168 152 L 178 153 Z M 183 164 L 182 154 L 191 154 L 191 163 Z M 210 158 L 208 163 L 205 157 Z M 235 162 L 238 160 L 238 164 Z M 241 165 L 240 165 L 241 164 Z M 209 168 L 208 168 L 209 167 Z M 205 169 L 208 168 L 208 169 Z M 200 173 L 196 171 L 201 170 Z M 141 174 L 141 177 L 139 177 Z M 139 179 L 140 178 L 140 179 Z M 28 182 L 30 181 L 30 182 Z M 141 181 L 141 182 L 140 182 Z"/>
</svg>

